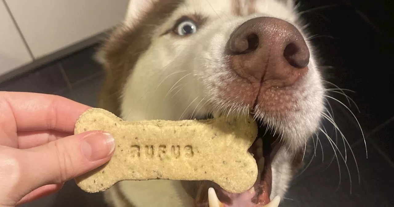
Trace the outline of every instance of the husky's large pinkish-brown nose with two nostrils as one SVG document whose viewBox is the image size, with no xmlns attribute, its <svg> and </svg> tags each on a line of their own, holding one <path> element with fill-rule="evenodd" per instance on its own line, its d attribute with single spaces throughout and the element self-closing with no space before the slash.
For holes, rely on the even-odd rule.
<svg viewBox="0 0 394 207">
<path fill-rule="evenodd" d="M 309 49 L 299 30 L 272 17 L 243 23 L 231 35 L 228 48 L 232 68 L 253 82 L 275 80 L 275 86 L 291 86 L 309 64 Z"/>
</svg>

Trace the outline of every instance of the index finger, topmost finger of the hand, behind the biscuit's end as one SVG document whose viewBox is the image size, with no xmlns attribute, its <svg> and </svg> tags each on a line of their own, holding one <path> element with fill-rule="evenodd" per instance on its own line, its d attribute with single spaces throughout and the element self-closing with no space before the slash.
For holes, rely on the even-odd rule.
<svg viewBox="0 0 394 207">
<path fill-rule="evenodd" d="M 74 132 L 76 120 L 89 108 L 57 95 L 1 91 L 0 127 L 15 120 L 17 131 Z"/>
</svg>

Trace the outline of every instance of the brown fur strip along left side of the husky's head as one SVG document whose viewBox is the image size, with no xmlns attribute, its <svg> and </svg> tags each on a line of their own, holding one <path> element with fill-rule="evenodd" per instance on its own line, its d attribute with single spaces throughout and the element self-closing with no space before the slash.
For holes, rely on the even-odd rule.
<svg viewBox="0 0 394 207">
<path fill-rule="evenodd" d="M 149 35 L 183 0 L 160 0 L 144 14 L 144 18 L 130 29 L 118 26 L 102 47 L 104 52 L 105 80 L 99 95 L 98 106 L 120 116 L 120 98 L 126 81 L 139 56 L 151 44 Z"/>
</svg>

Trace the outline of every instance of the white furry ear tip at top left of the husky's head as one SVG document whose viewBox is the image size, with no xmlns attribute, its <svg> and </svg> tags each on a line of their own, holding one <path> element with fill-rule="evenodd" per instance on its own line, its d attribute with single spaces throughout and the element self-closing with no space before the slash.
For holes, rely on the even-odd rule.
<svg viewBox="0 0 394 207">
<path fill-rule="evenodd" d="M 125 24 L 128 26 L 138 24 L 158 1 L 160 0 L 130 0 L 125 17 Z"/>
</svg>

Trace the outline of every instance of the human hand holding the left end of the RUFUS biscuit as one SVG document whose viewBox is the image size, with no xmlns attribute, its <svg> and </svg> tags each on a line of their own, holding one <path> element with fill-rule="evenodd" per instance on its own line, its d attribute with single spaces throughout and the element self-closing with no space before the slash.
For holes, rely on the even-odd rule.
<svg viewBox="0 0 394 207">
<path fill-rule="evenodd" d="M 55 95 L 0 91 L 0 207 L 57 192 L 65 181 L 110 160 L 112 136 L 73 135 L 88 108 Z"/>
</svg>

